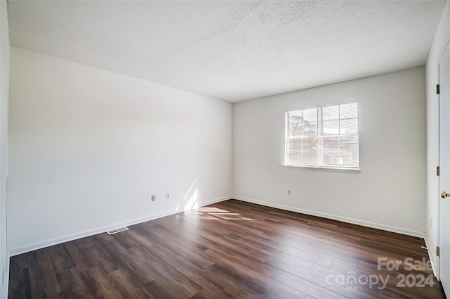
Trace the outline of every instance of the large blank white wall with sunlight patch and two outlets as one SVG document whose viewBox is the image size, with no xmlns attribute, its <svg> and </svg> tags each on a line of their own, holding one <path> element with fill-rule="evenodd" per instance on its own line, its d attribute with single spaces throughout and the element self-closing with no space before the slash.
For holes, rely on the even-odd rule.
<svg viewBox="0 0 450 299">
<path fill-rule="evenodd" d="M 10 94 L 11 254 L 232 193 L 230 103 L 14 47 Z"/>
</svg>

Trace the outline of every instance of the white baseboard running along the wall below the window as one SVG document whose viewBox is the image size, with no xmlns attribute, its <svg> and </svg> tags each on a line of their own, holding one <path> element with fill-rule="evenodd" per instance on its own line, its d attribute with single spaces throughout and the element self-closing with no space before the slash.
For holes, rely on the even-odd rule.
<svg viewBox="0 0 450 299">
<path fill-rule="evenodd" d="M 383 231 L 391 231 L 391 232 L 398 233 L 398 234 L 404 234 L 404 235 L 408 235 L 408 236 L 416 236 L 418 238 L 425 238 L 425 232 L 423 232 L 423 231 L 413 231 L 411 229 L 403 229 L 401 227 L 391 227 L 390 225 L 368 222 L 368 221 L 364 221 L 364 220 L 357 220 L 357 219 L 353 219 L 353 218 L 349 218 L 349 217 L 342 217 L 342 216 L 327 214 L 327 213 L 323 213 L 323 212 L 304 210 L 304 209 L 300 209 L 300 208 L 291 207 L 288 205 L 278 205 L 276 203 L 269 203 L 266 201 L 257 201 L 252 198 L 245 198 L 245 197 L 240 197 L 240 196 L 234 196 L 233 198 L 237 199 L 238 201 L 246 201 L 248 203 L 256 203 L 257 205 L 265 205 L 265 206 L 271 207 L 271 208 L 288 210 L 291 212 L 300 212 L 302 214 L 323 217 L 323 218 L 327 218 L 327 219 L 331 219 L 331 220 L 338 220 L 338 221 L 347 222 L 347 223 L 351 223 L 351 224 L 357 224 L 357 225 L 361 225 L 363 227 L 371 227 L 373 229 L 381 229 Z"/>
</svg>

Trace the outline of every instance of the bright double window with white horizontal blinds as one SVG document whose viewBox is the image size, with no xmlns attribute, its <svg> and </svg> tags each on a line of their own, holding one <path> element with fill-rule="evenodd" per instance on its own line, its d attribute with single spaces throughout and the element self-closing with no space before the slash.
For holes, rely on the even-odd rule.
<svg viewBox="0 0 450 299">
<path fill-rule="evenodd" d="M 285 113 L 285 165 L 358 169 L 358 103 Z"/>
</svg>

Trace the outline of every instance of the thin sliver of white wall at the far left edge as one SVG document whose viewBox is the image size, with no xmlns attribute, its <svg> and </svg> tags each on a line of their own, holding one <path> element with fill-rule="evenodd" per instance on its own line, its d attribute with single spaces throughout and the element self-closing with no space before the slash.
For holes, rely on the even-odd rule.
<svg viewBox="0 0 450 299">
<path fill-rule="evenodd" d="M 8 175 L 8 89 L 9 33 L 6 1 L 0 1 L 0 298 L 8 291 L 9 258 L 7 250 L 6 208 Z"/>
</svg>

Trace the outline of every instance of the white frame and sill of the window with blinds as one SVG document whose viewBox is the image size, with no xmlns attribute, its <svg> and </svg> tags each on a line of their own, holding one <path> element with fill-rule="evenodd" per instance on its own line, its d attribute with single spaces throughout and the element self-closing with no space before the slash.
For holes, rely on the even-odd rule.
<svg viewBox="0 0 450 299">
<path fill-rule="evenodd" d="M 348 167 L 347 165 L 343 167 L 339 166 L 330 166 L 330 165 L 295 165 L 295 164 L 288 164 L 288 138 L 289 136 L 289 130 L 290 130 L 290 118 L 289 113 L 293 111 L 299 111 L 299 110 L 308 110 L 308 109 L 316 109 L 317 113 L 317 119 L 316 119 L 316 127 L 317 127 L 317 134 L 311 135 L 311 136 L 317 136 L 318 138 L 323 138 L 326 136 L 345 136 L 345 134 L 323 134 L 323 108 L 324 107 L 330 107 L 330 106 L 340 106 L 345 105 L 349 103 L 356 103 L 357 104 L 357 120 L 358 120 L 358 131 L 356 134 L 349 134 L 349 135 L 356 135 L 358 136 L 358 166 L 356 167 Z M 320 106 L 314 106 L 314 107 L 305 107 L 305 108 L 295 108 L 295 109 L 289 109 L 285 110 L 285 138 L 284 138 L 284 153 L 283 153 L 283 166 L 290 169 L 302 169 L 302 170 L 322 170 L 322 171 L 330 171 L 330 172 L 360 172 L 360 165 L 359 165 L 359 102 L 358 101 L 347 101 L 343 103 L 333 103 L 333 104 L 327 104 L 327 105 L 320 105 Z M 339 117 L 338 120 L 340 121 L 341 118 Z M 307 136 L 307 135 L 304 135 Z"/>
</svg>

